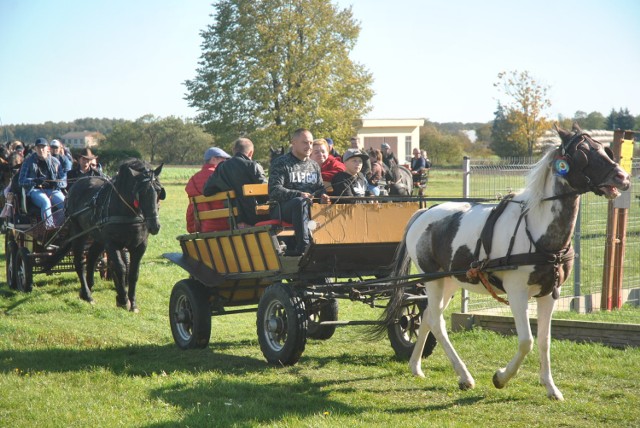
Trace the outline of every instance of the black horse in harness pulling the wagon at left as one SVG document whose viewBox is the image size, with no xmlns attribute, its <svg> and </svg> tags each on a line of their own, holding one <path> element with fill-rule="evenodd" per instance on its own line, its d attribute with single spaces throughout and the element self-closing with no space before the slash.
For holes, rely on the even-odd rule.
<svg viewBox="0 0 640 428">
<path fill-rule="evenodd" d="M 140 261 L 147 249 L 149 233 L 160 231 L 158 203 L 166 194 L 158 180 L 162 165 L 155 170 L 139 159 L 120 165 L 113 180 L 86 177 L 78 180 L 67 195 L 66 215 L 70 241 L 58 253 L 73 249 L 74 266 L 80 279 L 80 298 L 93 303 L 91 289 L 98 257 L 107 252 L 114 271 L 116 304 L 137 312 L 136 283 Z M 84 250 L 91 239 L 86 261 Z M 127 269 L 123 250 L 129 254 Z"/>
</svg>

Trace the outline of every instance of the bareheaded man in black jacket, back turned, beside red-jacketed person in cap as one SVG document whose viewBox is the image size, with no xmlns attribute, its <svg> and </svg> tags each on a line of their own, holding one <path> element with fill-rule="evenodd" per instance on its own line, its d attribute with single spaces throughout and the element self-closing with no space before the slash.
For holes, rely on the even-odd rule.
<svg viewBox="0 0 640 428">
<path fill-rule="evenodd" d="M 256 214 L 258 201 L 254 197 L 242 196 L 245 184 L 266 183 L 262 166 L 253 160 L 253 142 L 248 138 L 238 138 L 233 143 L 233 157 L 216 168 L 204 185 L 203 194 L 211 196 L 218 192 L 233 190 L 238 206 L 238 228 L 253 226 L 260 219 Z"/>
</svg>

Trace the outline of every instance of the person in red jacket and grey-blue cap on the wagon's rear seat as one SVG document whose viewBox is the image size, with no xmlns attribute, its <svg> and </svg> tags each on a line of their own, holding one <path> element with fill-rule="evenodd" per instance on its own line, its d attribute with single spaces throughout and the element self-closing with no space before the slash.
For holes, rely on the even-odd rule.
<svg viewBox="0 0 640 428">
<path fill-rule="evenodd" d="M 209 147 L 204 152 L 204 164 L 200 171 L 196 172 L 187 182 L 184 190 L 187 192 L 189 198 L 200 196 L 203 194 L 204 185 L 207 179 L 213 174 L 218 165 L 231 156 L 219 147 Z M 223 201 L 204 202 L 198 204 L 198 207 L 202 207 L 202 210 L 215 210 L 224 208 Z M 203 220 L 200 224 L 196 223 L 196 218 L 193 215 L 193 203 L 189 200 L 189 206 L 187 207 L 187 232 L 210 232 L 214 230 L 227 230 L 229 229 L 229 221 L 226 218 L 216 218 L 211 220 Z"/>
</svg>

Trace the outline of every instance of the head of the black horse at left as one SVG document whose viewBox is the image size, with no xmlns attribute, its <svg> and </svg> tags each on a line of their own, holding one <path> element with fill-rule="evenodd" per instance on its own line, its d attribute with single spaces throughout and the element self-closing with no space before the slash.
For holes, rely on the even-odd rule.
<svg viewBox="0 0 640 428">
<path fill-rule="evenodd" d="M 142 213 L 149 233 L 158 234 L 160 231 L 159 202 L 166 197 L 164 187 L 158 179 L 162 172 L 162 165 L 151 169 L 144 162 L 136 159 L 133 163 L 123 164 L 123 167 L 126 169 L 121 168 L 121 172 L 126 171 L 125 174 L 133 180 L 131 187 L 133 207 Z"/>
</svg>

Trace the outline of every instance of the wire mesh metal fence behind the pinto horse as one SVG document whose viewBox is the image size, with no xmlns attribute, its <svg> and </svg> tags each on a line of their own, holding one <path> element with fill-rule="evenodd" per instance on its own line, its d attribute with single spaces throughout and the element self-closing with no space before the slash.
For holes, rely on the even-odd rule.
<svg viewBox="0 0 640 428">
<path fill-rule="evenodd" d="M 471 198 L 493 198 L 522 189 L 534 162 L 530 159 L 500 161 L 465 159 L 463 193 Z M 633 161 L 631 207 L 628 211 L 626 249 L 623 267 L 623 290 L 629 301 L 638 304 L 640 294 L 640 160 Z M 559 310 L 584 312 L 600 309 L 600 293 L 605 265 L 607 212 L 609 202 L 588 193 L 580 202 L 580 214 L 573 239 L 576 259 L 574 271 L 561 289 Z M 468 311 L 509 311 L 490 296 L 470 294 Z M 535 305 L 531 307 L 535 312 Z"/>
</svg>

